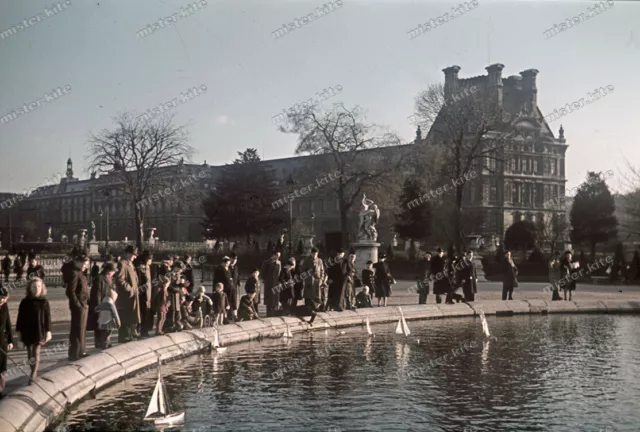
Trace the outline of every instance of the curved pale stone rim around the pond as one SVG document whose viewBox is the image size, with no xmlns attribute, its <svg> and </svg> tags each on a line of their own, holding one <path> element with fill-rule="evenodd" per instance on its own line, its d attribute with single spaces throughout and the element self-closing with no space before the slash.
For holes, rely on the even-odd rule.
<svg viewBox="0 0 640 432">
<path fill-rule="evenodd" d="M 318 314 L 314 325 L 296 317 L 263 318 L 225 325 L 220 328 L 220 343 L 231 345 L 263 338 L 280 338 L 287 327 L 292 333 L 325 328 L 362 326 L 395 322 L 400 308 L 406 320 L 427 320 L 486 315 L 511 316 L 547 313 L 640 313 L 640 302 L 511 300 L 390 306 L 356 311 Z M 102 388 L 125 378 L 156 369 L 158 359 L 168 363 L 211 349 L 215 329 L 204 328 L 170 333 L 109 348 L 88 358 L 60 366 L 36 380 L 38 385 L 22 387 L 0 402 L 0 430 L 3 432 L 40 432 L 57 421 L 72 405 L 95 396 Z"/>
</svg>

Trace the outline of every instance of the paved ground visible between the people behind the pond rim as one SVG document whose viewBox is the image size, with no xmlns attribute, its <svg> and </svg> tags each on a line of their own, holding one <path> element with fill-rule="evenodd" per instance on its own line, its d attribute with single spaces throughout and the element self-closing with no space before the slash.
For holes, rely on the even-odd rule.
<svg viewBox="0 0 640 432">
<path fill-rule="evenodd" d="M 515 299 L 542 299 L 550 300 L 551 293 L 546 292 L 543 283 L 521 283 L 519 288 L 514 292 Z M 620 292 L 622 290 L 622 292 Z M 476 300 L 500 300 L 502 294 L 502 283 L 486 282 L 478 284 L 478 294 Z M 22 294 L 14 293 L 9 300 L 11 310 L 11 322 L 15 326 L 17 308 Z M 42 351 L 42 359 L 40 363 L 40 372 L 43 373 L 56 365 L 64 364 L 67 360 L 67 340 L 69 334 L 69 309 L 67 299 L 64 296 L 63 288 L 50 288 L 48 298 L 51 304 L 53 324 L 53 339 L 45 345 Z M 580 300 L 633 300 L 640 301 L 640 286 L 624 286 L 624 285 L 578 285 L 578 289 L 574 292 L 574 299 Z M 417 304 L 418 295 L 415 293 L 415 284 L 411 281 L 399 281 L 393 287 L 392 297 L 389 299 L 389 305 L 405 305 Z M 429 295 L 427 303 L 435 303 L 435 296 Z M 376 302 L 374 301 L 374 307 Z M 262 307 L 261 312 L 264 312 Z M 117 343 L 117 335 L 112 337 L 112 343 Z M 27 364 L 26 351 L 21 344 L 18 344 L 13 351 L 9 353 L 9 362 L 7 370 L 7 391 L 11 391 L 16 387 L 25 385 L 27 382 L 26 375 L 29 373 Z M 87 352 L 89 354 L 96 353 L 99 350 L 93 348 L 94 339 L 93 332 L 87 333 Z"/>
</svg>

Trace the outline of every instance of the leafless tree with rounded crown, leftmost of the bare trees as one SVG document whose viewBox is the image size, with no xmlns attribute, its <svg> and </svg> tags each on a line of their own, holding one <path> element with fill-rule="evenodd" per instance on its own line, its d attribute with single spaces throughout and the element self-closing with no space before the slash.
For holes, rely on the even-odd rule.
<svg viewBox="0 0 640 432">
<path fill-rule="evenodd" d="M 121 182 L 132 204 L 136 243 L 144 239 L 144 210 L 137 205 L 166 185 L 163 167 L 190 160 L 193 148 L 184 126 L 174 126 L 172 116 L 151 120 L 125 113 L 114 118 L 113 130 L 103 129 L 89 140 L 89 170 L 111 174 Z M 117 188 L 118 186 L 116 186 Z"/>
</svg>

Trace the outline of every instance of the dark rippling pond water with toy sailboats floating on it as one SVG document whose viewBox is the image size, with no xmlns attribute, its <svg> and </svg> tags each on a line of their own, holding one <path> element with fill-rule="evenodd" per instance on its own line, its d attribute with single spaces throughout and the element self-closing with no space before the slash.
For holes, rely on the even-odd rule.
<svg viewBox="0 0 640 432">
<path fill-rule="evenodd" d="M 182 431 L 638 431 L 640 317 L 550 315 L 295 334 L 163 367 Z M 419 340 L 419 341 L 418 341 Z M 155 374 L 77 406 L 60 430 L 153 430 Z"/>
</svg>

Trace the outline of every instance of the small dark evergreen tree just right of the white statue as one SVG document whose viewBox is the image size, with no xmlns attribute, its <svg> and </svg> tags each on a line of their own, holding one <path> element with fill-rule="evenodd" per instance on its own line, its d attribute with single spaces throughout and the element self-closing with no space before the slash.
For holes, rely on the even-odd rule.
<svg viewBox="0 0 640 432">
<path fill-rule="evenodd" d="M 431 234 L 431 204 L 422 202 L 427 190 L 417 177 L 405 180 L 396 213 L 395 231 L 401 238 L 426 240 Z"/>
</svg>

